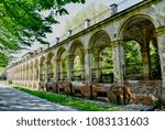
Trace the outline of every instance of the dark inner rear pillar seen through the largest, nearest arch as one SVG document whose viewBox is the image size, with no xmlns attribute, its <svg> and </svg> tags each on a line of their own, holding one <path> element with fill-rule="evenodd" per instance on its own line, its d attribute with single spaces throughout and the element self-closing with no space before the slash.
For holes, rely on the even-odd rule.
<svg viewBox="0 0 165 130">
<path fill-rule="evenodd" d="M 150 48 L 148 46 L 141 46 L 141 55 L 144 68 L 144 77 L 150 78 L 151 62 L 150 62 Z"/>
</svg>

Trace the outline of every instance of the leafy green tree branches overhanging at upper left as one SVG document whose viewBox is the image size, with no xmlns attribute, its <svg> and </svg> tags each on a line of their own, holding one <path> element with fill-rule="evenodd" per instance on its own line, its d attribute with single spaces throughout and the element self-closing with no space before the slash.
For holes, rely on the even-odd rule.
<svg viewBox="0 0 165 130">
<path fill-rule="evenodd" d="M 68 14 L 64 6 L 70 2 L 84 3 L 85 0 L 1 0 L 0 51 L 4 52 L 3 56 L 34 42 L 50 44 L 46 33 L 52 33 L 52 24 L 58 23 L 57 15 Z"/>
</svg>

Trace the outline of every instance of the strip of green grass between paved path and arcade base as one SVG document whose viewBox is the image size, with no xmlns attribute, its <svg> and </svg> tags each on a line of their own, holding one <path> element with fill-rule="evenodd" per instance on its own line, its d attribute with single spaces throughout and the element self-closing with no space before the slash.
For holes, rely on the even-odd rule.
<svg viewBox="0 0 165 130">
<path fill-rule="evenodd" d="M 57 95 L 57 94 L 52 94 L 52 93 L 31 90 L 31 89 L 22 88 L 19 86 L 13 86 L 13 88 L 16 88 L 16 89 L 25 91 L 28 94 L 37 96 L 40 98 L 44 98 L 52 102 L 56 102 L 56 104 L 61 104 L 61 105 L 65 105 L 65 106 L 72 106 L 79 110 L 86 110 L 86 111 L 119 111 L 120 110 L 118 107 L 112 106 L 112 105 L 99 106 L 99 105 L 95 105 L 92 102 L 85 102 L 80 99 L 74 99 L 74 98 L 65 96 L 65 95 Z"/>
</svg>

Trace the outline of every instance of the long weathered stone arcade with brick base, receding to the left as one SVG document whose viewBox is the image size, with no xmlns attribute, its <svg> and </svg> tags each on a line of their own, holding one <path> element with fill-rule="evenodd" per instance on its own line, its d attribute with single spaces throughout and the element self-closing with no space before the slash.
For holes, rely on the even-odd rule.
<svg viewBox="0 0 165 130">
<path fill-rule="evenodd" d="M 118 104 L 153 105 L 156 98 L 165 102 L 165 0 L 145 0 L 121 12 L 117 4 L 111 9 L 107 19 L 95 24 L 87 20 L 84 30 L 69 30 L 55 45 L 22 56 L 7 68 L 8 83 Z M 141 48 L 142 64 L 132 65 L 143 67 L 141 78 L 127 71 L 128 41 L 135 41 Z M 154 69 L 150 43 L 157 52 Z M 106 47 L 112 50 L 109 75 L 101 73 L 106 68 L 100 65 L 100 52 Z M 78 71 L 74 67 L 76 57 L 80 61 Z"/>
</svg>

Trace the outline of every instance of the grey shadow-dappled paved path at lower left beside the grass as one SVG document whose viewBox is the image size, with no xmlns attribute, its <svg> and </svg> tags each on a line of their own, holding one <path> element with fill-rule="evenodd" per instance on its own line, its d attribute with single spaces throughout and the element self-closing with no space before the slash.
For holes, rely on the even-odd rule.
<svg viewBox="0 0 165 130">
<path fill-rule="evenodd" d="M 50 102 L 45 99 L 16 90 L 0 83 L 0 111 L 77 111 L 68 106 Z"/>
</svg>

